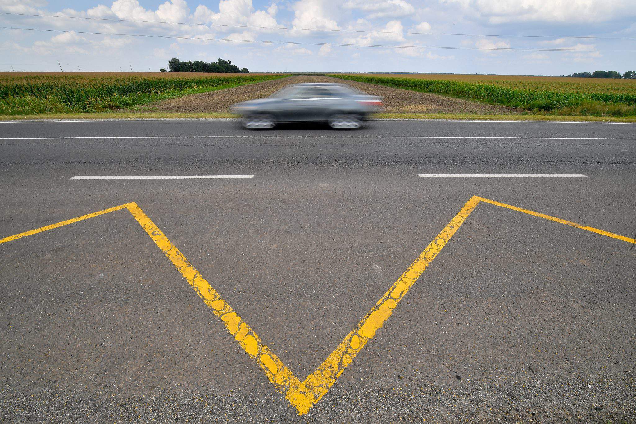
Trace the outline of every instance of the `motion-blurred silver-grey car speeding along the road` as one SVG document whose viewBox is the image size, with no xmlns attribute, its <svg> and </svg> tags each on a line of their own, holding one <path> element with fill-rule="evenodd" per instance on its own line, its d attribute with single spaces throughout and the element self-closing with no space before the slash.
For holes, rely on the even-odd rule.
<svg viewBox="0 0 636 424">
<path fill-rule="evenodd" d="M 289 85 L 266 99 L 232 106 L 245 128 L 273 128 L 279 122 L 327 122 L 331 128 L 360 128 L 380 110 L 382 97 L 331 83 Z"/>
</svg>

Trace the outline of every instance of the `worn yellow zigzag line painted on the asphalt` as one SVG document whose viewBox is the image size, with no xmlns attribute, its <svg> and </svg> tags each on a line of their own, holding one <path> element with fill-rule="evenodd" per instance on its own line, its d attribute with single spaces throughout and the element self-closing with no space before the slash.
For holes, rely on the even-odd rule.
<svg viewBox="0 0 636 424">
<path fill-rule="evenodd" d="M 471 214 L 471 212 L 473 212 L 480 202 L 487 202 L 492 205 L 517 210 L 519 212 L 524 212 L 525 214 L 559 222 L 560 224 L 586 229 L 587 231 L 617 238 L 618 240 L 623 240 L 625 242 L 634 242 L 632 238 L 609 233 L 608 231 L 583 226 L 576 222 L 565 221 L 564 219 L 550 215 L 539 214 L 532 210 L 518 208 L 495 200 L 473 196 L 468 200 L 468 202 L 466 202 L 459 213 L 455 215 L 450 222 L 448 222 L 445 228 L 439 232 L 432 242 L 429 243 L 422 254 L 420 254 L 420 256 L 413 261 L 413 263 L 406 271 L 404 271 L 397 281 L 389 287 L 389 290 L 357 324 L 357 327 L 347 334 L 342 343 L 336 347 L 336 350 L 334 350 L 327 359 L 322 362 L 314 373 L 307 376 L 305 381 L 302 382 L 298 380 L 291 370 L 283 364 L 279 357 L 277 357 L 272 350 L 270 350 L 270 348 L 261 341 L 261 338 L 259 338 L 256 332 L 254 332 L 254 330 L 239 316 L 239 314 L 233 310 L 232 306 L 221 298 L 221 295 L 214 290 L 214 288 L 212 288 L 207 280 L 202 277 L 197 269 L 188 262 L 188 259 L 186 259 L 179 249 L 170 242 L 167 236 L 163 234 L 153 221 L 151 221 L 148 215 L 144 214 L 141 208 L 137 206 L 137 203 L 126 203 L 125 205 L 100 210 L 99 212 L 93 212 L 88 215 L 82 215 L 67 221 L 57 222 L 57 224 L 51 224 L 31 231 L 26 231 L 25 233 L 8 236 L 0 239 L 0 243 L 10 242 L 11 240 L 17 240 L 18 238 L 41 233 L 42 231 L 47 231 L 49 229 L 59 228 L 67 224 L 72 224 L 73 222 L 107 214 L 108 212 L 113 212 L 115 210 L 128 209 L 153 242 L 155 242 L 165 256 L 170 259 L 183 278 L 185 278 L 186 281 L 188 281 L 188 284 L 190 284 L 197 292 L 198 296 L 200 296 L 205 304 L 211 308 L 212 313 L 223 321 L 226 329 L 228 329 L 230 334 L 232 334 L 232 336 L 239 342 L 241 348 L 249 355 L 249 357 L 256 360 L 263 370 L 263 373 L 265 373 L 267 378 L 273 383 L 273 385 L 276 386 L 277 390 L 281 393 L 285 393 L 285 397 L 289 400 L 289 403 L 298 410 L 299 414 L 302 415 L 306 414 L 310 407 L 314 406 L 314 404 L 328 392 L 329 388 L 333 385 L 333 383 L 335 383 L 338 377 L 340 377 L 344 369 L 349 366 L 352 360 L 354 360 L 357 353 L 364 348 L 368 341 L 375 337 L 378 329 L 382 328 L 384 323 L 389 319 L 389 317 L 391 317 L 393 310 L 397 307 L 397 304 L 399 304 L 403 297 L 406 296 L 406 293 L 411 287 L 413 287 L 415 282 L 417 282 L 426 267 L 433 259 L 435 259 L 441 249 L 443 249 L 446 243 L 448 243 L 457 229 L 459 229 L 464 221 L 466 221 L 467 217 Z"/>
</svg>

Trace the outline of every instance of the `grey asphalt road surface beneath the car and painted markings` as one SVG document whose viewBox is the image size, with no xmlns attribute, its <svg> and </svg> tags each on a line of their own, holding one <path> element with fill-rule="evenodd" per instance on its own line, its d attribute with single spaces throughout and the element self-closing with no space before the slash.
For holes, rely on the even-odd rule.
<svg viewBox="0 0 636 424">
<path fill-rule="evenodd" d="M 136 202 L 303 381 L 472 196 L 633 238 L 635 165 L 636 125 L 5 122 L 0 238 Z M 587 177 L 418 177 L 480 173 Z M 69 180 L 195 174 L 254 177 Z M 462 222 L 302 416 L 127 210 L 1 243 L 0 420 L 633 421 L 632 243 Z"/>
</svg>

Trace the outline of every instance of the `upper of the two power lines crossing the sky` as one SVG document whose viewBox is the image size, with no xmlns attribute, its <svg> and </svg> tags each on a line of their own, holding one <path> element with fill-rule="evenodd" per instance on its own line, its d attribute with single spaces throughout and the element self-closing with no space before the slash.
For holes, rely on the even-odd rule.
<svg viewBox="0 0 636 424">
<path fill-rule="evenodd" d="M 371 34 L 408 34 L 420 36 L 462 36 L 462 37 L 518 37 L 518 38 L 588 38 L 588 39 L 636 39 L 636 37 L 597 37 L 597 36 L 520 36 L 520 35 L 495 35 L 495 34 L 456 34 L 451 32 L 399 32 L 399 31 L 366 31 L 356 29 L 317 29 L 317 28 L 292 28 L 292 27 L 257 27 L 253 25 L 223 25 L 223 24 L 195 24 L 192 22 L 162 22 L 158 20 L 135 20 L 135 19 L 114 19 L 114 18 L 88 18 L 64 15 L 36 15 L 34 13 L 10 13 L 0 12 L 2 15 L 32 16 L 41 18 L 68 18 L 68 19 L 89 19 L 107 20 L 114 22 L 140 22 L 144 24 L 169 24 L 169 25 L 193 25 L 202 27 L 232 27 L 232 28 L 254 28 L 254 29 L 287 29 L 292 31 L 329 31 L 329 32 L 364 32 Z"/>
</svg>

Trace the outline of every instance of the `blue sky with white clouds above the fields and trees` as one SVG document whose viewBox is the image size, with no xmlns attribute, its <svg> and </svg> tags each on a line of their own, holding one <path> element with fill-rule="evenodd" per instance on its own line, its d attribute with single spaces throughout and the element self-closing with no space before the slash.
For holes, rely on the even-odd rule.
<svg viewBox="0 0 636 424">
<path fill-rule="evenodd" d="M 0 71 L 11 71 L 11 66 L 16 71 L 59 71 L 58 61 L 64 71 L 77 71 L 78 68 L 81 71 L 130 71 L 130 65 L 134 71 L 158 71 L 160 67 L 167 67 L 171 57 L 206 61 L 221 57 L 255 72 L 560 75 L 596 69 L 621 73 L 636 70 L 636 51 L 587 51 L 636 50 L 633 0 L 0 0 L 0 11 L 214 24 L 174 25 L 0 15 L 0 26 L 61 31 L 0 29 Z M 307 28 L 340 31 L 300 30 Z M 67 31 L 197 39 L 134 38 Z M 511 37 L 515 35 L 550 37 Z M 623 39 L 567 38 L 574 36 Z M 625 39 L 630 37 L 632 39 Z M 203 40 L 205 38 L 280 43 Z M 329 46 L 329 43 L 353 45 Z M 371 47 L 369 44 L 418 48 Z M 431 46 L 478 47 L 482 50 L 435 49 Z M 490 50 L 492 48 L 556 51 Z"/>
</svg>

